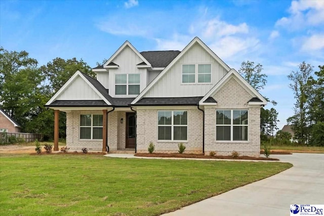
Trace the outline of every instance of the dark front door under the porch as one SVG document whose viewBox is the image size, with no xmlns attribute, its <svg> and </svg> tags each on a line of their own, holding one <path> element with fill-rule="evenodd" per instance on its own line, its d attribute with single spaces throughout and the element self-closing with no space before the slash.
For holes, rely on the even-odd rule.
<svg viewBox="0 0 324 216">
<path fill-rule="evenodd" d="M 126 113 L 126 148 L 135 149 L 136 117 L 134 112 Z"/>
</svg>

